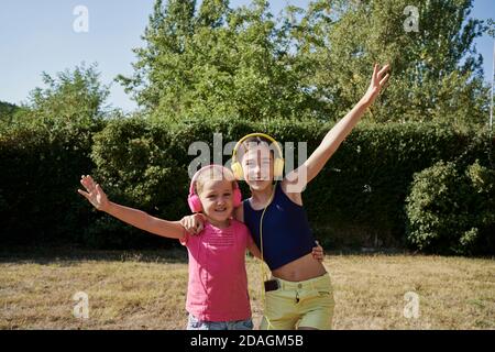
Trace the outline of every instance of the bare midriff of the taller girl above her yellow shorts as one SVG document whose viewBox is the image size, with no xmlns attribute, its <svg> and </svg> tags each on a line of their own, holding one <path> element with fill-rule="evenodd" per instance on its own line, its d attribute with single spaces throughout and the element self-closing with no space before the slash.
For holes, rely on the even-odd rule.
<svg viewBox="0 0 495 352">
<path fill-rule="evenodd" d="M 287 282 L 302 282 L 327 273 L 323 264 L 308 253 L 290 263 L 272 271 L 272 275 Z"/>
</svg>

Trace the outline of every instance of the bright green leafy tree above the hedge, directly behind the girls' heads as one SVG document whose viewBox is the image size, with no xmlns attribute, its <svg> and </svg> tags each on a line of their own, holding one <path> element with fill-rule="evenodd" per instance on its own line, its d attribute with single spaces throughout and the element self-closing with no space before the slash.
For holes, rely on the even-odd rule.
<svg viewBox="0 0 495 352">
<path fill-rule="evenodd" d="M 160 118 L 299 118 L 317 103 L 268 2 L 232 10 L 228 1 L 156 1 L 135 50 L 132 77 L 119 77 L 138 103 Z M 174 25 L 176 23 L 177 25 Z"/>
</svg>

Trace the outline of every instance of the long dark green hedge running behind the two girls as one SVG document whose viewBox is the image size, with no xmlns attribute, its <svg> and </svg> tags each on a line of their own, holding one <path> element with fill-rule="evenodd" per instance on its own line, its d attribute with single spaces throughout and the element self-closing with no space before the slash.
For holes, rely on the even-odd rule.
<svg viewBox="0 0 495 352">
<path fill-rule="evenodd" d="M 50 155 L 65 153 L 63 161 L 53 157 L 46 161 L 48 174 L 56 174 L 53 167 L 64 166 L 69 174 L 61 183 L 46 185 L 46 191 L 51 195 L 58 189 L 58 195 L 50 201 L 42 201 L 43 197 L 40 196 L 32 202 L 28 196 L 15 198 L 10 195 L 6 198 L 6 188 L 0 188 L 2 217 L 6 216 L 6 207 L 9 208 L 4 205 L 6 201 L 16 202 L 7 212 L 10 217 L 10 234 L 7 238 L 15 240 L 25 226 L 30 229 L 38 228 L 37 224 L 34 226 L 38 222 L 35 210 L 42 208 L 46 211 L 48 207 L 57 209 L 53 205 L 66 199 L 68 207 L 64 207 L 63 213 L 57 211 L 58 213 L 52 213 L 52 218 L 44 220 L 48 226 L 44 224 L 47 233 L 43 234 L 43 239 L 74 240 L 98 248 L 169 245 L 175 241 L 134 230 L 90 210 L 89 205 L 74 198 L 78 196 L 73 196 L 73 193 L 78 187 L 80 174 L 94 174 L 114 201 L 166 219 L 179 219 L 189 212 L 186 202 L 189 183 L 187 167 L 196 157 L 187 155 L 190 143 L 205 141 L 212 146 L 213 133 L 218 132 L 222 133 L 226 144 L 260 131 L 272 134 L 283 143 L 305 141 L 310 154 L 330 128 L 330 124 L 315 121 L 189 120 L 170 127 L 143 118 L 113 120 L 94 135 L 92 142 L 85 140 L 92 144 L 91 161 L 91 161 L 86 155 L 82 156 L 84 153 L 74 153 L 70 148 L 63 152 L 56 145 L 47 145 L 45 142 L 36 145 L 35 141 L 40 135 L 32 135 L 31 139 L 26 136 L 26 143 L 31 146 L 25 153 L 28 160 L 33 160 L 31 164 L 35 163 L 36 157 L 33 155 L 40 155 L 40 148 L 48 148 Z M 9 146 L 4 141 L 15 139 L 16 136 L 1 139 L 1 163 L 6 163 L 9 153 L 20 153 L 19 146 Z M 73 144 L 67 142 L 68 145 Z M 362 122 L 304 193 L 304 202 L 316 237 L 333 249 L 375 244 L 407 245 L 405 199 L 415 173 L 439 161 L 471 165 L 479 160 L 481 165 L 490 166 L 490 143 L 493 146 L 494 140 L 490 141 L 484 133 L 455 131 L 439 124 Z M 223 162 L 228 160 L 229 156 L 223 156 Z M 36 187 L 25 187 L 25 182 L 35 176 L 28 167 L 29 164 L 20 158 L 9 163 L 12 163 L 13 175 L 16 175 L 10 178 L 12 189 L 19 189 L 19 194 L 30 189 L 33 191 Z M 54 165 L 50 165 L 51 163 Z M 4 185 L 4 177 L 0 176 L 1 185 Z M 242 188 L 244 195 L 248 195 L 245 185 Z M 28 217 L 23 217 L 24 221 L 20 223 L 16 211 L 24 208 L 29 209 L 24 211 Z M 55 226 L 52 221 L 59 218 L 64 218 L 63 226 Z M 54 228 L 57 231 L 52 231 Z M 4 238 L 2 235 L 2 241 Z"/>
</svg>

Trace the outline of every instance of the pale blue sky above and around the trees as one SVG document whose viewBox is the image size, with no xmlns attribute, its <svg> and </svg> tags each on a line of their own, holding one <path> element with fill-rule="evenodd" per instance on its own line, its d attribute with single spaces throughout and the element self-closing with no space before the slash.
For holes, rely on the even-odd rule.
<svg viewBox="0 0 495 352">
<path fill-rule="evenodd" d="M 231 7 L 250 3 L 231 0 Z M 306 7 L 308 0 L 271 1 L 274 14 L 285 4 Z M 98 63 L 103 84 L 132 73 L 133 47 L 142 35 L 154 0 L 2 0 L 0 12 L 0 100 L 20 103 L 35 87 L 42 87 L 41 73 L 54 75 L 81 62 Z M 89 10 L 89 31 L 76 33 L 73 14 L 77 6 Z M 494 0 L 474 0 L 472 16 L 495 18 Z M 484 57 L 486 79 L 492 75 L 493 40 L 476 40 Z M 131 111 L 135 103 L 118 84 L 112 84 L 109 103 Z"/>
</svg>

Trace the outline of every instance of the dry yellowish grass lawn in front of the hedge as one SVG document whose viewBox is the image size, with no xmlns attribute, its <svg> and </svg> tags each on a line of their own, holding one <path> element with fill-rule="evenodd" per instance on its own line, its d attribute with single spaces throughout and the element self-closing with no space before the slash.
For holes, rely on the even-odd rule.
<svg viewBox="0 0 495 352">
<path fill-rule="evenodd" d="M 495 329 L 495 261 L 422 255 L 327 255 L 333 329 Z M 260 265 L 248 258 L 253 320 Z M 0 329 L 184 329 L 185 251 L 0 253 Z M 89 318 L 76 319 L 76 293 Z M 405 294 L 419 297 L 406 318 Z"/>
</svg>

